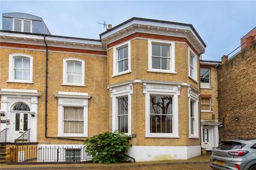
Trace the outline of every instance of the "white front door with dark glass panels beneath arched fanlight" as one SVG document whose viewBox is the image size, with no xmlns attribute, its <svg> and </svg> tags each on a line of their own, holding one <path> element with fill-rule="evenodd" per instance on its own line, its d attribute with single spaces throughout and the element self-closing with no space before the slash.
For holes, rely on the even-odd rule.
<svg viewBox="0 0 256 170">
<path fill-rule="evenodd" d="M 14 113 L 14 139 L 27 131 L 28 113 Z"/>
</svg>

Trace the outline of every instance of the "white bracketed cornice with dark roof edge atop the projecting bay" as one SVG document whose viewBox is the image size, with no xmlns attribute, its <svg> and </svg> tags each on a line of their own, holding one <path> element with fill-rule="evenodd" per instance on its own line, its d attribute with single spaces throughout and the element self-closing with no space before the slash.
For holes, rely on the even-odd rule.
<svg viewBox="0 0 256 170">
<path fill-rule="evenodd" d="M 185 37 L 199 53 L 203 53 L 206 47 L 205 43 L 191 24 L 142 18 L 132 18 L 127 20 L 126 22 L 101 33 L 100 37 L 104 44 L 109 44 L 135 32 Z"/>
</svg>

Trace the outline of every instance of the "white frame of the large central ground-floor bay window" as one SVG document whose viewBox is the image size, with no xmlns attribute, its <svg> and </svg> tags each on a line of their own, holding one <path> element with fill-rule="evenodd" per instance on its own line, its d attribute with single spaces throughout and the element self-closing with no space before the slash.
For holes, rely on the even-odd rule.
<svg viewBox="0 0 256 170">
<path fill-rule="evenodd" d="M 156 87 L 158 86 L 158 87 Z M 156 88 L 155 88 L 156 87 Z M 179 138 L 179 113 L 177 86 L 146 85 L 146 138 Z M 172 133 L 150 133 L 150 95 L 163 95 L 172 97 Z"/>
</svg>

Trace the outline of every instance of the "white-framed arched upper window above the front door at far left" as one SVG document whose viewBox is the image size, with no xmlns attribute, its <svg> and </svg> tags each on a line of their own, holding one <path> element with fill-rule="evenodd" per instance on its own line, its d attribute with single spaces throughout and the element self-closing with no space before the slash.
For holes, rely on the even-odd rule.
<svg viewBox="0 0 256 170">
<path fill-rule="evenodd" d="M 9 81 L 32 83 L 33 57 L 27 54 L 10 54 Z"/>
</svg>

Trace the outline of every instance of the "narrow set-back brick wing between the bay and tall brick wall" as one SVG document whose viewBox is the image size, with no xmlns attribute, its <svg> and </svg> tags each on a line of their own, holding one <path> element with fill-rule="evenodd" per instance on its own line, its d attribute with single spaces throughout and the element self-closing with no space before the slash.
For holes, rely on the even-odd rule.
<svg viewBox="0 0 256 170">
<path fill-rule="evenodd" d="M 212 151 L 218 146 L 218 61 L 200 61 L 201 146 Z"/>
</svg>

